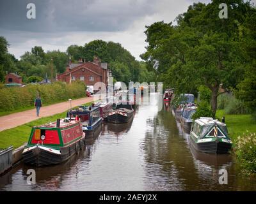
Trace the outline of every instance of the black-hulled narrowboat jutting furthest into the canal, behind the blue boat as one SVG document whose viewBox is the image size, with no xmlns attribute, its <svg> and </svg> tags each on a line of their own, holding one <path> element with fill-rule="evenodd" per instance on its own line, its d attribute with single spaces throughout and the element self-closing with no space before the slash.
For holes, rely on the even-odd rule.
<svg viewBox="0 0 256 204">
<path fill-rule="evenodd" d="M 108 114 L 108 122 L 113 123 L 125 123 L 129 122 L 133 118 L 133 108 L 129 103 L 121 103 L 116 105 L 113 112 Z"/>
</svg>

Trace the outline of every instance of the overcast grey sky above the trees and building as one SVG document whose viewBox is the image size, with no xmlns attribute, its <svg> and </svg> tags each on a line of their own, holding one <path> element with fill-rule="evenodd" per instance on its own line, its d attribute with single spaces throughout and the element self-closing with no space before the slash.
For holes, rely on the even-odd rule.
<svg viewBox="0 0 256 204">
<path fill-rule="evenodd" d="M 255 2 L 256 0 L 253 0 Z M 173 22 L 193 0 L 0 0 L 0 36 L 19 58 L 35 45 L 65 52 L 92 40 L 122 44 L 136 59 L 145 52 L 145 25 Z M 210 0 L 200 2 L 209 3 Z M 36 19 L 27 18 L 27 4 Z"/>
</svg>

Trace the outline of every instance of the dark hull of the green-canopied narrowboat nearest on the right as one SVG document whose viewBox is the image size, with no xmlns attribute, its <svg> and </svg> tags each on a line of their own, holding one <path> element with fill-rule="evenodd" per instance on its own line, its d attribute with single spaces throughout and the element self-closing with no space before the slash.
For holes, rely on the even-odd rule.
<svg viewBox="0 0 256 204">
<path fill-rule="evenodd" d="M 212 154 L 226 154 L 231 150 L 232 147 L 231 143 L 221 142 L 219 140 L 198 143 L 195 142 L 193 138 L 191 138 L 191 144 L 196 150 L 200 152 Z"/>
</svg>

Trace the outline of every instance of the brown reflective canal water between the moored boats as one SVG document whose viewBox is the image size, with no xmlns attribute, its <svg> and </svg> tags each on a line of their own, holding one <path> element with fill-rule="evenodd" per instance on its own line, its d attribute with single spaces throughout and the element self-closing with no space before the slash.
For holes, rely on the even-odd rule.
<svg viewBox="0 0 256 204">
<path fill-rule="evenodd" d="M 157 110 L 156 94 L 129 124 L 104 123 L 102 132 L 68 162 L 42 168 L 20 163 L 0 177 L 0 191 L 255 191 L 230 154 L 196 152 L 172 115 Z M 36 184 L 27 184 L 27 170 Z M 219 184 L 226 169 L 228 184 Z"/>
</svg>

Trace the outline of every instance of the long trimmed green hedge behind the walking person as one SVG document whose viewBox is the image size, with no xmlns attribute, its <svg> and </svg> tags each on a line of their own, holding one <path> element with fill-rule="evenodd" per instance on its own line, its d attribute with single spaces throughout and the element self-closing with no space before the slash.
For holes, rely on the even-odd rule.
<svg viewBox="0 0 256 204">
<path fill-rule="evenodd" d="M 0 89 L 0 112 L 12 111 L 34 105 L 34 100 L 39 92 L 43 105 L 58 103 L 69 98 L 85 97 L 86 85 L 83 82 L 65 84 L 31 84 L 26 87 L 4 87 Z"/>
</svg>

